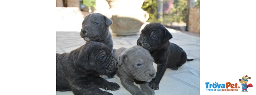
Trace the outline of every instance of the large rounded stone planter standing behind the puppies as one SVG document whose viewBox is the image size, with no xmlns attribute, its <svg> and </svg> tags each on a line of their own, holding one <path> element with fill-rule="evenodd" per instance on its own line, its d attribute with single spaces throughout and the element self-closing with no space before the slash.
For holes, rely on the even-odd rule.
<svg viewBox="0 0 256 95">
<path fill-rule="evenodd" d="M 110 26 L 117 35 L 133 35 L 148 20 L 149 14 L 141 9 L 144 0 L 106 0 L 110 6 L 108 18 L 113 24 Z"/>
</svg>

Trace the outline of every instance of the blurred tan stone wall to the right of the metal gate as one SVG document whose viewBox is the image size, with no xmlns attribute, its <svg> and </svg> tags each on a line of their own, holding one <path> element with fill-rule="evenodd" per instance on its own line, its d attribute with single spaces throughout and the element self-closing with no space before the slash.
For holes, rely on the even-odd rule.
<svg viewBox="0 0 256 95">
<path fill-rule="evenodd" d="M 200 33 L 200 7 L 189 9 L 188 31 Z"/>
</svg>

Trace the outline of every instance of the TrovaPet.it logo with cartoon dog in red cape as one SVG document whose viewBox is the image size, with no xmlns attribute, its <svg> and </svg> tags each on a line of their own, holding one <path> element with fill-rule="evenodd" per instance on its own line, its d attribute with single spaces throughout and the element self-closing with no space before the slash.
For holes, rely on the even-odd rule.
<svg viewBox="0 0 256 95">
<path fill-rule="evenodd" d="M 206 82 L 206 91 L 238 91 L 238 89 L 242 88 L 242 92 L 248 92 L 247 88 L 253 87 L 252 84 L 247 85 L 248 79 L 251 79 L 251 77 L 248 77 L 247 75 L 242 77 L 242 79 L 239 79 L 242 87 L 238 86 L 237 83 L 230 82 L 226 82 L 224 84 L 218 82 L 213 82 L 211 84 L 210 82 Z"/>
</svg>

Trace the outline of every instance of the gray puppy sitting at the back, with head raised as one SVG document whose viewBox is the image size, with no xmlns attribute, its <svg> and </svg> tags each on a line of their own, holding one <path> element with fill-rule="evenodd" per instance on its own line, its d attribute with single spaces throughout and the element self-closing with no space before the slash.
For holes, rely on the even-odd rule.
<svg viewBox="0 0 256 95">
<path fill-rule="evenodd" d="M 112 21 L 100 13 L 88 14 L 82 23 L 80 36 L 87 42 L 98 41 L 113 49 L 113 41 L 109 33 Z"/>
</svg>

